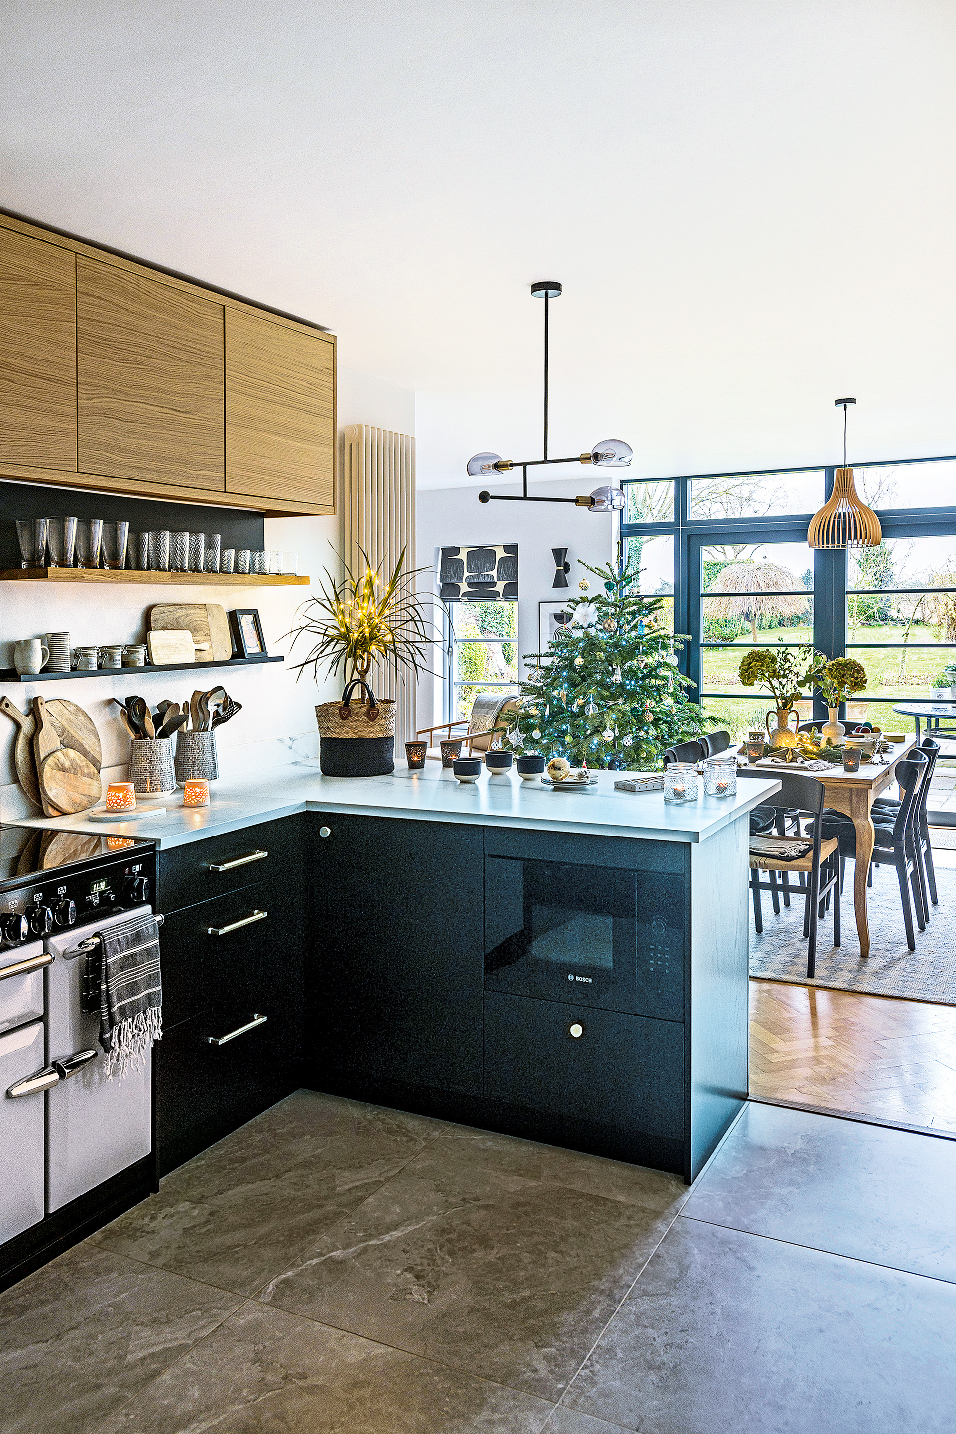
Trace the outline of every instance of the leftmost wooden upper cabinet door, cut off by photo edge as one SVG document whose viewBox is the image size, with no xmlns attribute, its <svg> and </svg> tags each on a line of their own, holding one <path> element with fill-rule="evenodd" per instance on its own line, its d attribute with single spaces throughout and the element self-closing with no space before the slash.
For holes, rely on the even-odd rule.
<svg viewBox="0 0 956 1434">
<path fill-rule="evenodd" d="M 0 462 L 76 472 L 76 257 L 6 228 Z"/>
</svg>

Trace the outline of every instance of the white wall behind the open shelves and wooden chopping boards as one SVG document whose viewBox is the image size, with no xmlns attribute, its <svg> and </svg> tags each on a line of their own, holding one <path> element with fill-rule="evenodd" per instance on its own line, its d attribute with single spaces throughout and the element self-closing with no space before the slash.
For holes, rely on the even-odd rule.
<svg viewBox="0 0 956 1434">
<path fill-rule="evenodd" d="M 347 369 L 338 370 L 338 423 L 371 423 L 378 427 L 414 432 L 414 394 L 393 383 Z M 50 511 L 69 512 L 67 489 L 50 490 Z M 0 509 L 4 519 L 16 518 L 7 511 L 0 483 Z M 212 531 L 208 509 L 196 506 L 196 529 Z M 298 571 L 314 576 L 322 568 L 334 571 L 335 554 L 341 551 L 340 519 L 335 518 L 267 518 L 265 546 L 298 551 Z M 295 612 L 307 601 L 305 587 L 231 588 L 176 587 L 156 584 L 0 584 L 0 667 L 13 667 L 13 644 L 17 638 L 67 630 L 73 647 L 86 642 L 132 642 L 145 638 L 145 615 L 153 602 L 168 602 L 175 592 L 178 602 L 219 602 L 229 608 L 255 607 L 262 619 L 262 631 L 269 654 L 290 651 L 288 634 Z M 308 651 L 308 640 L 300 638 L 292 650 L 292 661 Z M 242 774 L 277 766 L 297 756 L 318 753 L 314 706 L 335 694 L 335 681 L 320 675 L 318 684 L 302 674 L 295 681 L 290 663 L 279 667 L 257 667 L 225 673 L 214 668 L 206 677 L 199 665 L 192 673 L 136 674 L 126 668 L 116 677 L 96 677 L 75 683 L 0 683 L 6 694 L 20 708 L 29 707 L 34 693 L 43 697 L 69 697 L 93 718 L 103 744 L 103 776 L 122 780 L 129 754 L 129 737 L 123 730 L 113 697 L 142 693 L 152 706 L 163 697 L 182 701 L 193 688 L 212 687 L 226 681 L 229 694 L 242 703 L 242 711 L 218 730 L 221 774 Z M 34 815 L 16 786 L 13 747 L 16 730 L 0 716 L 0 820 Z"/>
</svg>

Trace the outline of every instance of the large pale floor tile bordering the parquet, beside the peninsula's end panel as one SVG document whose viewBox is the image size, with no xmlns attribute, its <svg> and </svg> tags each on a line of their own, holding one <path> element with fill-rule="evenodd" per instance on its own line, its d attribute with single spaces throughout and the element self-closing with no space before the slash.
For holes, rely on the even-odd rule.
<svg viewBox="0 0 956 1434">
<path fill-rule="evenodd" d="M 684 1215 L 956 1281 L 956 1141 L 751 1104 Z"/>
</svg>

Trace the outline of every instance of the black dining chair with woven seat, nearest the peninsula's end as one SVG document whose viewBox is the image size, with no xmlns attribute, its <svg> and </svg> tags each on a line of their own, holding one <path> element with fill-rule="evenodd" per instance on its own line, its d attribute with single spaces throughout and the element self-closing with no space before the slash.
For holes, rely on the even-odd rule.
<svg viewBox="0 0 956 1434">
<path fill-rule="evenodd" d="M 777 872 L 797 872 L 806 882 L 801 895 L 804 896 L 803 934 L 808 939 L 807 979 L 813 978 L 817 969 L 817 923 L 830 898 L 833 898 L 833 944 L 834 946 L 840 945 L 840 846 L 836 837 L 823 833 L 823 782 L 817 782 L 816 777 L 781 771 L 780 799 L 787 803 L 788 809 L 803 812 L 810 817 L 810 830 L 803 840 L 810 842 L 811 849 L 806 856 L 793 860 L 754 850 L 752 846 L 750 852 L 750 889 L 754 898 L 754 925 L 758 932 L 764 929 L 760 893 L 770 892 L 774 898 L 774 911 L 780 911 L 775 901 Z M 780 847 L 801 840 L 798 836 L 780 835 L 761 839 Z M 768 880 L 761 882 L 761 872 L 767 873 Z"/>
</svg>

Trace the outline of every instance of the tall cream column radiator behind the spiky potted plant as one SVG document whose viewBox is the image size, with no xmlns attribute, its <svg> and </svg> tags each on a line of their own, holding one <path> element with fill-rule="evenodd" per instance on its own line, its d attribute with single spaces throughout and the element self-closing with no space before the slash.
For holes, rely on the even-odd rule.
<svg viewBox="0 0 956 1434">
<path fill-rule="evenodd" d="M 416 566 L 414 542 L 414 439 L 407 433 L 354 423 L 345 429 L 343 462 L 343 551 L 353 572 L 368 564 L 390 574 L 406 549 L 406 571 Z M 401 675 L 376 663 L 371 670 L 376 697 L 396 701 L 396 757 L 414 737 L 414 674 Z"/>
</svg>

